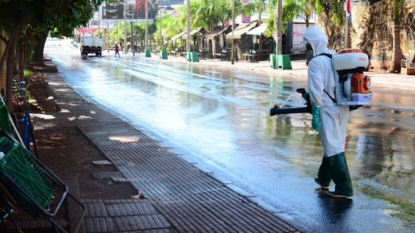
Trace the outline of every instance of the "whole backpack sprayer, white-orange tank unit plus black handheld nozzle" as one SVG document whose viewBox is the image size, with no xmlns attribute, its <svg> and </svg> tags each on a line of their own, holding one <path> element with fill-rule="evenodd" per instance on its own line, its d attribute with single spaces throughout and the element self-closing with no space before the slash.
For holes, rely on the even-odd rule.
<svg viewBox="0 0 415 233">
<path fill-rule="evenodd" d="M 331 64 L 335 70 L 335 97 L 331 100 L 335 105 L 356 106 L 369 104 L 372 97 L 370 91 L 370 77 L 365 75 L 366 67 L 369 65 L 369 57 L 366 53 L 358 48 L 348 48 L 341 50 L 338 54 L 328 55 L 331 58 Z M 300 108 L 281 108 L 277 104 L 270 109 L 270 115 L 289 114 L 289 113 L 311 113 L 310 98 L 304 96 L 306 93 L 304 88 L 298 88 L 298 93 L 302 93 L 306 99 L 306 106 Z M 328 95 L 328 94 L 327 94 Z"/>
</svg>

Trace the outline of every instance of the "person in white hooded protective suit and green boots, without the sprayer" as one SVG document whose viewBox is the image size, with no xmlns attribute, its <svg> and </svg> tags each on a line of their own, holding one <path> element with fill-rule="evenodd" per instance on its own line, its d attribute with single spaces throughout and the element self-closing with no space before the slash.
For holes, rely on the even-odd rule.
<svg viewBox="0 0 415 233">
<path fill-rule="evenodd" d="M 315 183 L 321 190 L 335 198 L 353 196 L 353 187 L 346 157 L 344 136 L 349 120 L 349 106 L 335 104 L 335 79 L 331 65 L 333 50 L 327 48 L 328 39 L 318 26 L 304 32 L 304 43 L 313 49 L 313 59 L 308 64 L 308 89 L 313 106 L 313 128 L 320 132 L 324 157 Z M 329 191 L 331 180 L 335 183 Z"/>
</svg>

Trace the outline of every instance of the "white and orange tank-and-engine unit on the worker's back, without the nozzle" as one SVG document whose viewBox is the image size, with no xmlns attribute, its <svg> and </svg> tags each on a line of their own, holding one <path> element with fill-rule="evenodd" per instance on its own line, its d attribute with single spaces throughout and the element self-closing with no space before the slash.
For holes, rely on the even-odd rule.
<svg viewBox="0 0 415 233">
<path fill-rule="evenodd" d="M 372 97 L 370 77 L 365 75 L 369 57 L 358 48 L 341 50 L 332 57 L 337 105 L 365 105 Z"/>
</svg>

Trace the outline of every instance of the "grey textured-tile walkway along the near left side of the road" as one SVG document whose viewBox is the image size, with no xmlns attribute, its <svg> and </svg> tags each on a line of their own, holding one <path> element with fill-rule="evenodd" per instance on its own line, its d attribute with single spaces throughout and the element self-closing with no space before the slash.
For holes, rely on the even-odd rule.
<svg viewBox="0 0 415 233">
<path fill-rule="evenodd" d="M 34 115 L 35 129 L 77 127 L 124 178 L 140 200 L 82 200 L 86 232 L 300 232 L 228 185 L 205 174 L 159 142 L 86 102 L 59 73 L 47 73 L 62 111 Z"/>
</svg>

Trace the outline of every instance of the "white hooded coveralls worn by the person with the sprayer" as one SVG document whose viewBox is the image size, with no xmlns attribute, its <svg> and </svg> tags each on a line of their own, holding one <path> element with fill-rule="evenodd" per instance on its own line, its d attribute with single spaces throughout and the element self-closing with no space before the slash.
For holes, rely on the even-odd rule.
<svg viewBox="0 0 415 233">
<path fill-rule="evenodd" d="M 334 70 L 331 59 L 322 53 L 334 54 L 327 48 L 328 39 L 318 26 L 310 26 L 304 32 L 304 40 L 313 48 L 313 59 L 308 63 L 308 91 L 311 102 L 321 107 L 320 139 L 324 147 L 324 156 L 334 156 L 344 152 L 344 136 L 349 120 L 349 106 L 337 106 L 331 100 L 335 98 Z M 327 93 L 324 93 L 324 90 Z"/>
</svg>

